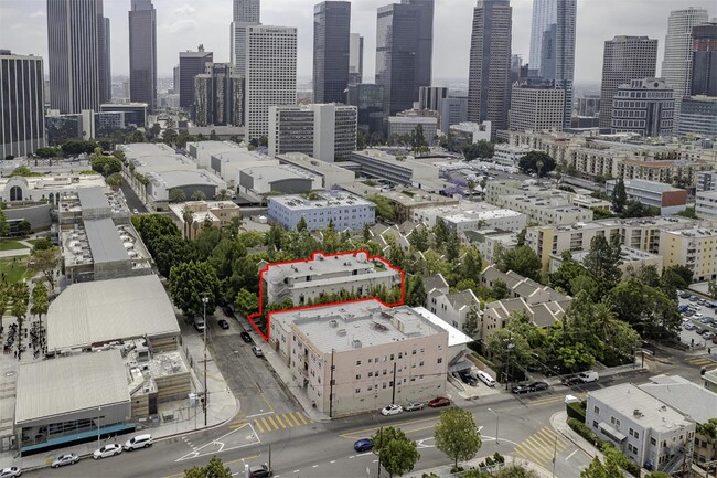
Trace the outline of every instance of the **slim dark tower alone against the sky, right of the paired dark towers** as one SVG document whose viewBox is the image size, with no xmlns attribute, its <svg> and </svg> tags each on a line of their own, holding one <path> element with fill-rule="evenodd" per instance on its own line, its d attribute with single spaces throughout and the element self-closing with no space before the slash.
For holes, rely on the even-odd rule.
<svg viewBox="0 0 717 478">
<path fill-rule="evenodd" d="M 129 98 L 147 103 L 149 111 L 154 111 L 157 13 L 151 0 L 132 0 L 129 11 Z"/>
</svg>

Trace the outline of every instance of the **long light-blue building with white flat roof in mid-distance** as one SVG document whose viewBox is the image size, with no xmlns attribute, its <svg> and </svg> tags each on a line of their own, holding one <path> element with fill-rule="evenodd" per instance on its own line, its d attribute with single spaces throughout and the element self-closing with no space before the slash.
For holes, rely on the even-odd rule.
<svg viewBox="0 0 717 478">
<path fill-rule="evenodd" d="M 299 195 L 269 198 L 269 217 L 289 231 L 297 229 L 303 217 L 309 231 L 318 231 L 330 223 L 336 231 L 361 230 L 376 223 L 376 205 L 353 194 L 331 191 L 309 200 Z"/>
</svg>

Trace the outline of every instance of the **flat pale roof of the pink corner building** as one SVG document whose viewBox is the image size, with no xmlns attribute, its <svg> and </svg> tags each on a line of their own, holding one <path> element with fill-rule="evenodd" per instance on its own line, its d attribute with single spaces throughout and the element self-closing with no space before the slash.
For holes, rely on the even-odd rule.
<svg viewBox="0 0 717 478">
<path fill-rule="evenodd" d="M 375 299 L 274 314 L 292 322 L 317 349 L 327 353 L 368 348 L 448 332 L 408 306 L 389 308 Z"/>
</svg>

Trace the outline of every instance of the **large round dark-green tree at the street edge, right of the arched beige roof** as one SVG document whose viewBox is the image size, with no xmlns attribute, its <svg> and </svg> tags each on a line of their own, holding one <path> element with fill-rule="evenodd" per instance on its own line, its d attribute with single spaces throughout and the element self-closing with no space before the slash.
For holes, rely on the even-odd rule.
<svg viewBox="0 0 717 478">
<path fill-rule="evenodd" d="M 212 314 L 220 296 L 220 279 L 207 263 L 181 263 L 170 270 L 169 293 L 176 308 L 188 318 L 203 314 L 202 294 L 208 293 L 206 310 Z"/>
</svg>

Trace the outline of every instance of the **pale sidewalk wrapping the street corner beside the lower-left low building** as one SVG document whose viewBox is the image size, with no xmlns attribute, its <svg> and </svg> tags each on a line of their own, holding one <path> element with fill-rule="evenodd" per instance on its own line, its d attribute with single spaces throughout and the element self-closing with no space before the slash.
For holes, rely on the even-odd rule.
<svg viewBox="0 0 717 478">
<path fill-rule="evenodd" d="M 202 370 L 203 372 L 204 342 L 202 341 L 202 338 L 197 334 L 182 336 L 181 349 L 184 351 L 185 355 L 188 355 L 188 361 L 191 357 L 195 363 L 194 367 L 199 368 L 199 370 Z M 202 392 L 203 376 L 199 376 L 193 368 L 190 368 L 190 371 L 192 374 L 194 391 Z M 159 425 L 153 425 L 149 421 L 138 423 L 137 432 L 135 434 L 149 433 L 157 442 L 158 439 L 169 438 L 174 435 L 191 433 L 203 428 L 212 428 L 231 421 L 239 412 L 239 403 L 232 394 L 232 391 L 227 386 L 224 376 L 220 372 L 214 360 L 212 360 L 208 351 L 206 376 L 208 382 L 206 427 L 204 426 L 204 413 L 201 404 L 193 408 L 194 413 L 186 416 L 186 413 L 184 412 L 188 410 L 186 401 L 182 401 L 182 403 L 170 402 L 158 405 L 157 415 L 160 417 L 160 422 L 161 417 L 167 414 L 176 416 L 176 419 L 168 423 L 159 423 Z M 132 434 L 119 435 L 115 438 L 103 438 L 100 440 L 94 440 L 81 445 L 71 445 L 67 448 L 55 449 L 26 457 L 20 457 L 18 450 L 4 452 L 0 453 L 0 468 L 9 466 L 17 466 L 22 470 L 42 468 L 49 466 L 55 457 L 64 453 L 76 453 L 81 457 L 87 457 L 103 445 L 108 443 L 124 444 L 131 436 Z"/>
</svg>

